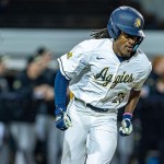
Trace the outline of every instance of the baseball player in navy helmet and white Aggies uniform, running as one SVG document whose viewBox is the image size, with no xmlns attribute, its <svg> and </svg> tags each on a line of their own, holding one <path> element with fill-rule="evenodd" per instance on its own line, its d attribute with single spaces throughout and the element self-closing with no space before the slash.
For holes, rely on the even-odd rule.
<svg viewBox="0 0 164 164">
<path fill-rule="evenodd" d="M 109 164 L 119 133 L 132 131 L 132 113 L 152 66 L 139 45 L 144 20 L 133 8 L 113 11 L 107 28 L 58 59 L 55 80 L 56 127 L 66 130 L 62 164 Z M 66 107 L 69 85 L 73 98 Z M 125 148 L 126 149 L 126 148 Z"/>
</svg>

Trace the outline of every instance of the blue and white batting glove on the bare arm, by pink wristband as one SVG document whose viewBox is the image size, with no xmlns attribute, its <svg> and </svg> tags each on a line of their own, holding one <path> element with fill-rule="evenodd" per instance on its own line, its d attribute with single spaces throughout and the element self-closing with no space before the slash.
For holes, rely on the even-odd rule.
<svg viewBox="0 0 164 164">
<path fill-rule="evenodd" d="M 121 127 L 119 128 L 120 136 L 129 136 L 132 132 L 132 114 L 125 113 L 122 116 Z"/>
</svg>

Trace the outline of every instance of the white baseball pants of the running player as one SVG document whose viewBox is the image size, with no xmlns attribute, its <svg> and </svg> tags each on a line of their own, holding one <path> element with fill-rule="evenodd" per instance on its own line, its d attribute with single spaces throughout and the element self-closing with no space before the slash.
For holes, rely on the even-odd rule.
<svg viewBox="0 0 164 164">
<path fill-rule="evenodd" d="M 65 132 L 62 164 L 109 164 L 117 145 L 117 113 L 96 113 L 70 102 L 72 127 Z"/>
</svg>

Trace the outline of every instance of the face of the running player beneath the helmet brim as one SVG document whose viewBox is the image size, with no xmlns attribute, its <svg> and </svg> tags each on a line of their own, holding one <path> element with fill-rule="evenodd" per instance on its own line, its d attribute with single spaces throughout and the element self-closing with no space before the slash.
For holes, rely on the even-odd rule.
<svg viewBox="0 0 164 164">
<path fill-rule="evenodd" d="M 138 39 L 139 38 L 137 36 L 121 32 L 118 39 L 114 42 L 113 48 L 115 54 L 121 57 L 130 57 Z"/>
</svg>

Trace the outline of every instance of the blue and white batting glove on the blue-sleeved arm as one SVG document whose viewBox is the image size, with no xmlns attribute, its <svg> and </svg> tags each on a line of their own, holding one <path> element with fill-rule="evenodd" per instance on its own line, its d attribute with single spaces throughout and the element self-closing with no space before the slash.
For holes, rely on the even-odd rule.
<svg viewBox="0 0 164 164">
<path fill-rule="evenodd" d="M 62 108 L 57 108 L 55 112 L 55 121 L 56 121 L 56 127 L 62 131 L 67 130 L 69 127 L 72 127 L 71 124 L 71 118 L 68 116 L 66 113 L 66 109 L 63 110 Z"/>
</svg>

